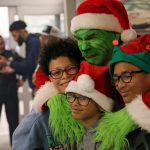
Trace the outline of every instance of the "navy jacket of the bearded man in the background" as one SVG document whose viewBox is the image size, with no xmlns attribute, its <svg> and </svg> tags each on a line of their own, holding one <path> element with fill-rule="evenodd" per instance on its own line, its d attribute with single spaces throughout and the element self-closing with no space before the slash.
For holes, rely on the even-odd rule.
<svg viewBox="0 0 150 150">
<path fill-rule="evenodd" d="M 29 34 L 26 44 L 26 57 L 23 61 L 14 61 L 11 63 L 12 68 L 19 74 L 26 74 L 30 88 L 34 89 L 32 83 L 32 74 L 37 66 L 37 61 L 40 52 L 40 39 L 35 34 Z"/>
</svg>

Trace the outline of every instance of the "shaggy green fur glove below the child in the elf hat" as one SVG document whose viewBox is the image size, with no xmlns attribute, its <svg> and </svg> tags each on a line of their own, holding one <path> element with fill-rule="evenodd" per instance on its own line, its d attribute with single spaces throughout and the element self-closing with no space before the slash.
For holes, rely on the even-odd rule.
<svg viewBox="0 0 150 150">
<path fill-rule="evenodd" d="M 107 112 L 100 124 L 95 129 L 94 142 L 101 142 L 98 150 L 124 150 L 129 143 L 126 136 L 129 132 L 137 129 L 138 126 L 131 119 L 126 108 L 118 112 Z"/>
</svg>

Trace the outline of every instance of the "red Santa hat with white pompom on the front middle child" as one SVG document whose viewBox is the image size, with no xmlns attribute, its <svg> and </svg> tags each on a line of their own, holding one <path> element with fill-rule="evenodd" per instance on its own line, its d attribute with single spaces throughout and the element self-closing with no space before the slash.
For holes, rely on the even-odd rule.
<svg viewBox="0 0 150 150">
<path fill-rule="evenodd" d="M 91 71 L 93 69 L 96 71 L 95 74 Z M 67 86 L 65 92 L 78 93 L 80 95 L 91 98 L 105 111 L 111 111 L 113 100 L 110 98 L 112 89 L 108 76 L 108 67 L 95 66 L 90 65 L 87 62 L 82 62 L 81 70 L 84 70 L 83 74 L 80 71 L 78 76 L 76 77 L 77 81 L 71 81 Z M 89 74 L 87 74 L 88 71 Z"/>
</svg>

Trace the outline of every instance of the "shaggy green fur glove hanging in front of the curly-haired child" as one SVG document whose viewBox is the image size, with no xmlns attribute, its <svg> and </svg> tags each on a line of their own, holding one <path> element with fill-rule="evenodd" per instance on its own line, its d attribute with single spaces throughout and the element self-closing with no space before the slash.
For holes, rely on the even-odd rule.
<svg viewBox="0 0 150 150">
<path fill-rule="evenodd" d="M 85 128 L 80 121 L 73 119 L 66 95 L 57 94 L 51 97 L 47 105 L 50 110 L 49 126 L 56 140 L 61 144 L 65 144 L 68 139 L 71 144 L 78 143 Z"/>
</svg>

